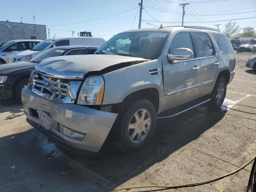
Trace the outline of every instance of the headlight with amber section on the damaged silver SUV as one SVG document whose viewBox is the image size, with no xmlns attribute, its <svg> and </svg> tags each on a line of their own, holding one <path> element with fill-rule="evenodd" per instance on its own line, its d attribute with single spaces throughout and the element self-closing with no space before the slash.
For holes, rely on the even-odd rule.
<svg viewBox="0 0 256 192">
<path fill-rule="evenodd" d="M 104 79 L 102 76 L 90 76 L 85 79 L 80 90 L 77 104 L 101 105 L 104 94 Z"/>
</svg>

